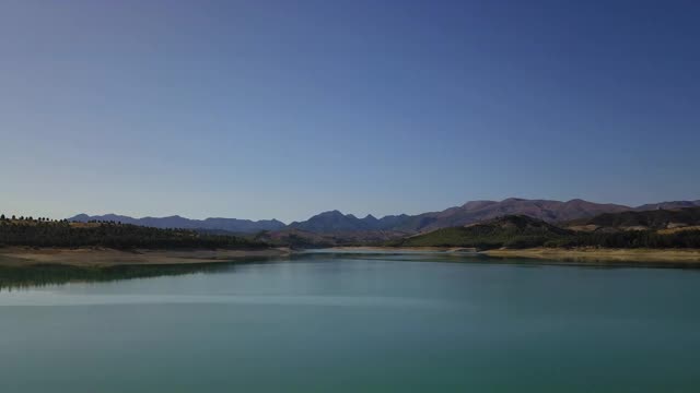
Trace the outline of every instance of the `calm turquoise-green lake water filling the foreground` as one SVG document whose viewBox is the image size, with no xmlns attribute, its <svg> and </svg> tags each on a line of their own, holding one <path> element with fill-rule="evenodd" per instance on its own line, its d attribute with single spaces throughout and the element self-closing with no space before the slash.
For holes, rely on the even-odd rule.
<svg viewBox="0 0 700 393">
<path fill-rule="evenodd" d="M 699 271 L 317 253 L 2 274 L 3 393 L 700 392 Z"/>
</svg>

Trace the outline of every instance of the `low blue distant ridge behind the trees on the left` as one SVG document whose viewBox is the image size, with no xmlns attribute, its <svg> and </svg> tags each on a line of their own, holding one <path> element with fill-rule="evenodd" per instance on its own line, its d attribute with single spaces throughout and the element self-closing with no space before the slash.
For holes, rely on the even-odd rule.
<svg viewBox="0 0 700 393">
<path fill-rule="evenodd" d="M 90 216 L 86 214 L 79 214 L 68 221 L 72 222 L 89 222 L 89 221 L 114 221 L 122 224 L 133 224 L 140 226 L 155 227 L 155 228 L 185 228 L 185 229 L 208 229 L 208 230 L 225 230 L 232 233 L 256 233 L 259 230 L 280 230 L 285 227 L 284 223 L 277 219 L 237 219 L 237 218 L 207 218 L 207 219 L 190 219 L 180 216 L 170 217 L 143 217 L 133 218 L 124 215 L 105 214 Z"/>
</svg>

